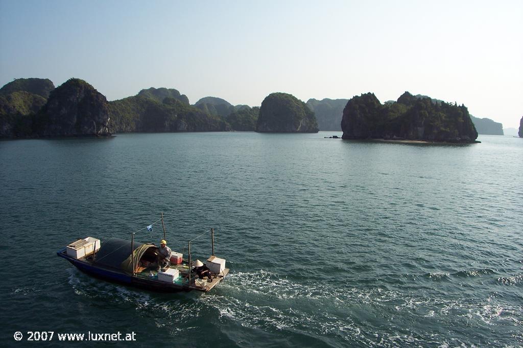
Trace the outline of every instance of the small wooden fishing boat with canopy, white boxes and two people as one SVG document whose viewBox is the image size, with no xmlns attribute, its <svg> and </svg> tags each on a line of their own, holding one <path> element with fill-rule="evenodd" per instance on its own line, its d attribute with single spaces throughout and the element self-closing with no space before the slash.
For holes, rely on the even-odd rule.
<svg viewBox="0 0 523 348">
<path fill-rule="evenodd" d="M 165 225 L 162 218 L 141 230 L 152 231 L 155 223 L 162 221 L 164 238 Z M 138 230 L 137 232 L 140 232 Z M 203 232 L 187 244 L 187 258 L 173 252 L 168 268 L 156 270 L 158 246 L 152 243 L 139 243 L 121 238 L 110 238 L 104 243 L 100 239 L 85 237 L 56 251 L 56 255 L 71 262 L 78 270 L 96 278 L 159 292 L 203 291 L 213 289 L 229 273 L 225 268 L 225 259 L 214 255 L 214 229 Z M 200 279 L 191 271 L 195 267 L 191 259 L 191 242 L 210 234 L 212 254 L 206 266 L 211 272 L 211 279 Z M 131 251 L 132 250 L 132 251 Z"/>
</svg>

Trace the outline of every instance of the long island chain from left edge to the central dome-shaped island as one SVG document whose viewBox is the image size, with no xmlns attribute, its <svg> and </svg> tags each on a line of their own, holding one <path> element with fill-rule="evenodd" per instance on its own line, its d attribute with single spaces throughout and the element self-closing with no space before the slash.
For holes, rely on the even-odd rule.
<svg viewBox="0 0 523 348">
<path fill-rule="evenodd" d="M 232 106 L 214 97 L 190 105 L 187 96 L 176 89 L 143 89 L 132 97 L 108 102 L 81 79 L 72 78 L 58 88 L 49 79 L 16 79 L 0 89 L 0 138 L 253 131 L 258 113 L 259 107 Z"/>
</svg>

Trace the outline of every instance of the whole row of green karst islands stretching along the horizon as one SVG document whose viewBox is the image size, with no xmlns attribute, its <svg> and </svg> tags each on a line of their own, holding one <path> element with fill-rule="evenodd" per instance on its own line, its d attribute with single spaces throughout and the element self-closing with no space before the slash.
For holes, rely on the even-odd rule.
<svg viewBox="0 0 523 348">
<path fill-rule="evenodd" d="M 519 136 L 523 136 L 523 118 Z M 260 107 L 206 97 L 190 104 L 176 89 L 149 88 L 107 101 L 84 80 L 59 87 L 49 79 L 16 79 L 0 89 L 0 137 L 108 136 L 129 132 L 342 130 L 343 139 L 475 142 L 503 134 L 502 125 L 471 116 L 464 105 L 405 92 L 380 103 L 373 93 L 351 99 L 310 99 L 271 93 Z"/>
</svg>

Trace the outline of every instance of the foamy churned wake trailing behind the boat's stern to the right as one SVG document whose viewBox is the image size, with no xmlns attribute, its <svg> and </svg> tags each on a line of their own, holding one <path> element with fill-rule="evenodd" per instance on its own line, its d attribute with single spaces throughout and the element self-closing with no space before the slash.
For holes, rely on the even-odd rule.
<svg viewBox="0 0 523 348">
<path fill-rule="evenodd" d="M 363 345 L 467 344 L 447 341 L 448 331 L 458 322 L 460 327 L 466 323 L 486 329 L 492 329 L 494 322 L 508 323 L 523 332 L 519 327 L 523 307 L 502 303 L 494 295 L 470 302 L 345 284 L 296 283 L 268 271 L 231 274 L 219 292 L 202 296 L 200 301 L 217 308 L 221 320 L 267 332 L 323 337 L 327 344 L 329 337 Z M 387 320 L 369 325 L 372 318 L 380 317 Z M 439 330 L 431 329 L 434 320 Z M 402 322 L 412 325 L 412 321 L 418 326 L 399 331 L 409 327 Z"/>
</svg>

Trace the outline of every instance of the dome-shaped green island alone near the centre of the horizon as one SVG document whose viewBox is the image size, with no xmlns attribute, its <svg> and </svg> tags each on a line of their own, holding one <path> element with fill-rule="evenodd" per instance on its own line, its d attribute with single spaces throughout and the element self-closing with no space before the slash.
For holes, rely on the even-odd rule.
<svg viewBox="0 0 523 348">
<path fill-rule="evenodd" d="M 256 124 L 258 132 L 317 133 L 314 112 L 288 93 L 271 93 L 263 102 Z"/>
</svg>

